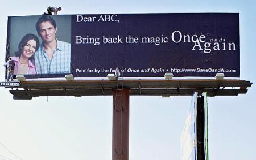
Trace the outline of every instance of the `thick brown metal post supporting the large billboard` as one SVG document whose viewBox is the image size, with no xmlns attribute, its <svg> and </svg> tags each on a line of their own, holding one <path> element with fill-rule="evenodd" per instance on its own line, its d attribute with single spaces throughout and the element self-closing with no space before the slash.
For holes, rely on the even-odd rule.
<svg viewBox="0 0 256 160">
<path fill-rule="evenodd" d="M 129 159 L 129 90 L 113 89 L 112 160 Z"/>
</svg>

